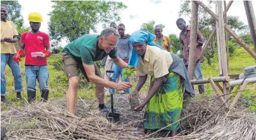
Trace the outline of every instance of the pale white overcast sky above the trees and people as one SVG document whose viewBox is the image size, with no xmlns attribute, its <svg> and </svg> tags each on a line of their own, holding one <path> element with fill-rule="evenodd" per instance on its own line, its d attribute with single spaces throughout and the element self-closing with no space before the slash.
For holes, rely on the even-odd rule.
<svg viewBox="0 0 256 140">
<path fill-rule="evenodd" d="M 156 24 L 165 25 L 163 34 L 166 36 L 170 33 L 177 34 L 178 36 L 180 33 L 180 30 L 177 28 L 175 23 L 179 18 L 178 12 L 180 10 L 180 1 L 129 0 L 121 2 L 127 5 L 128 8 L 121 11 L 121 21 L 116 24 L 124 24 L 126 26 L 126 33 L 133 33 L 140 28 L 141 24 L 151 20 L 156 21 Z M 229 1 L 226 1 L 226 3 L 228 2 Z M 48 33 L 47 23 L 49 22 L 50 17 L 47 14 L 53 10 L 51 7 L 53 3 L 48 0 L 20 0 L 19 3 L 21 4 L 21 15 L 24 17 L 24 26 L 29 26 L 29 21 L 27 20 L 29 13 L 38 12 L 43 16 L 43 22 L 40 30 Z M 206 3 L 206 1 L 203 3 Z M 256 11 L 255 1 L 253 1 L 253 7 L 254 11 Z M 213 11 L 215 12 L 215 9 Z M 243 21 L 244 24 L 248 25 L 243 1 L 234 1 L 227 12 L 227 15 L 239 16 L 240 20 Z M 181 17 L 183 17 L 186 22 L 189 21 L 189 17 Z M 101 25 L 98 25 L 97 33 L 100 33 L 102 29 Z M 61 42 L 62 46 L 65 44 L 65 41 Z"/>
</svg>

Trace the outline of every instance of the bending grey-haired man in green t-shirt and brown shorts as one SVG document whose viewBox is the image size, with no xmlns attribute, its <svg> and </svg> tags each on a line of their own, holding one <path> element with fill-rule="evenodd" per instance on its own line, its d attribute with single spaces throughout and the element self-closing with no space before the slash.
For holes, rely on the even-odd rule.
<svg viewBox="0 0 256 140">
<path fill-rule="evenodd" d="M 87 81 L 96 85 L 96 97 L 100 111 L 109 111 L 110 107 L 104 104 L 104 87 L 117 90 L 127 90 L 132 86 L 128 82 L 114 83 L 102 78 L 100 69 L 95 61 L 102 60 L 109 55 L 113 62 L 122 67 L 127 63 L 117 57 L 116 44 L 120 35 L 115 28 L 106 28 L 100 35 L 85 34 L 67 44 L 63 50 L 64 71 L 69 78 L 69 89 L 66 95 L 67 112 L 75 115 L 77 90 L 79 87 L 79 72 L 82 72 Z"/>
</svg>

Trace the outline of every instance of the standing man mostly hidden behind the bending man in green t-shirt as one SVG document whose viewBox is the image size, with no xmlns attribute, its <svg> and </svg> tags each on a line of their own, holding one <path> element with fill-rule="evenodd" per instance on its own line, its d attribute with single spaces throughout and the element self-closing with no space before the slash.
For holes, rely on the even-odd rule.
<svg viewBox="0 0 256 140">
<path fill-rule="evenodd" d="M 117 30 L 117 25 L 114 22 L 112 22 L 110 24 L 110 27 L 113 27 L 113 28 L 115 28 Z M 104 79 L 109 80 L 109 77 L 108 77 L 109 74 L 107 74 L 106 71 L 109 71 L 109 70 L 112 69 L 113 60 L 111 59 L 110 56 L 106 56 L 106 57 L 104 57 L 104 59 L 102 61 L 103 61 L 103 65 L 105 66 L 104 67 Z M 105 87 L 104 89 L 105 89 L 105 94 L 109 95 L 109 88 Z"/>
</svg>

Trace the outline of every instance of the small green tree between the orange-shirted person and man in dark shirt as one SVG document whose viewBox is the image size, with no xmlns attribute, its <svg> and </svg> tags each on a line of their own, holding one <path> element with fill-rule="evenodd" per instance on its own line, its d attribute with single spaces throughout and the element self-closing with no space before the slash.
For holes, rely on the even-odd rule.
<svg viewBox="0 0 256 140">
<path fill-rule="evenodd" d="M 177 55 L 180 55 L 181 52 L 183 51 L 182 48 L 182 44 L 180 43 L 180 39 L 179 37 L 176 36 L 176 34 L 169 34 L 169 38 L 170 38 L 170 44 L 172 44 L 172 47 L 170 48 L 170 50 Z"/>
</svg>

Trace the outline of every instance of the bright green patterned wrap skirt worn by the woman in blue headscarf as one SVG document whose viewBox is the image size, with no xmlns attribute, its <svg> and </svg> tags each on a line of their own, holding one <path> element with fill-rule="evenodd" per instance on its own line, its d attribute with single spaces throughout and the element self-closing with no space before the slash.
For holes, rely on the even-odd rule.
<svg viewBox="0 0 256 140">
<path fill-rule="evenodd" d="M 146 105 L 144 115 L 144 129 L 164 129 L 178 131 L 183 108 L 183 84 L 180 76 L 176 73 L 166 75 L 165 81 L 157 90 L 157 93 Z M 155 77 L 151 77 L 150 89 L 153 86 Z"/>
</svg>

